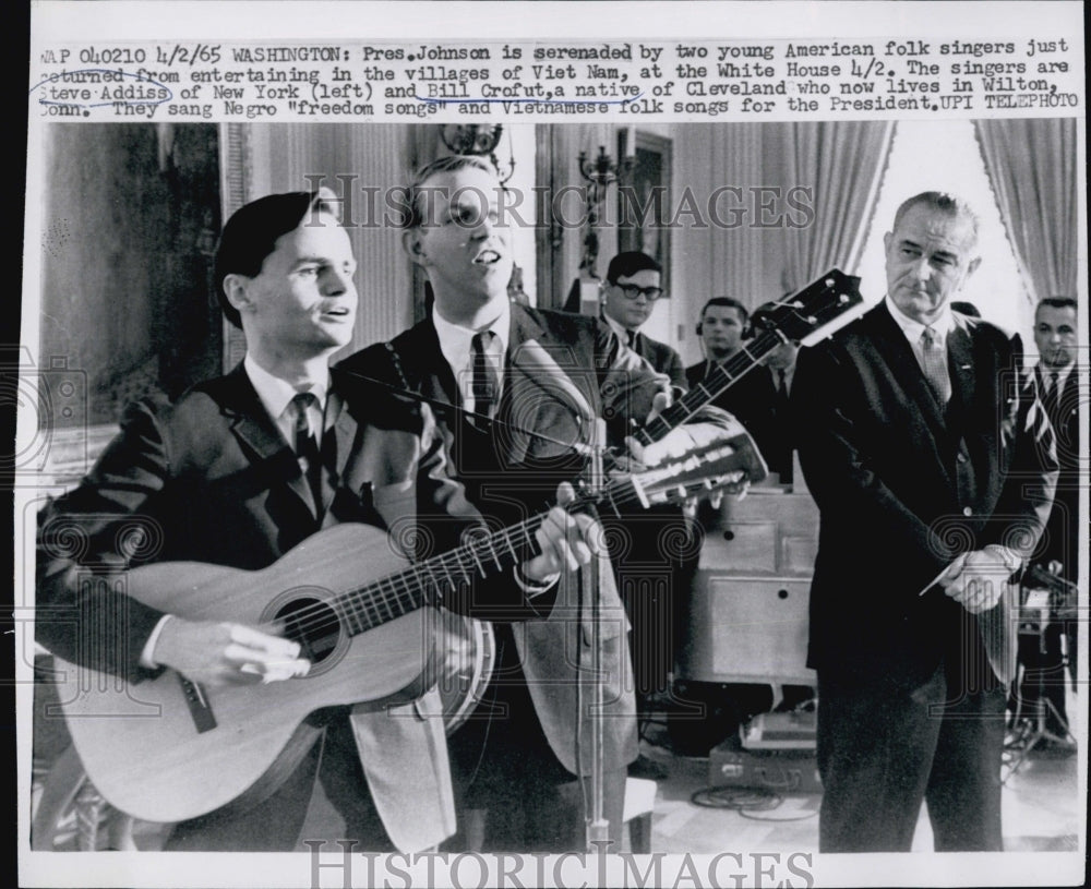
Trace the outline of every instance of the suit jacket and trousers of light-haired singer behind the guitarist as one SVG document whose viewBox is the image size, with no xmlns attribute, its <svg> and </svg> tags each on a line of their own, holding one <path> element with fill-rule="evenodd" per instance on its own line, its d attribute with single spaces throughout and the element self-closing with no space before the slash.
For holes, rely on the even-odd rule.
<svg viewBox="0 0 1091 889">
<path fill-rule="evenodd" d="M 491 432 L 482 432 L 455 417 L 440 420 L 453 454 L 452 474 L 466 484 L 470 501 L 488 518 L 504 522 L 540 510 L 552 498 L 558 482 L 574 478 L 583 465 L 583 458 L 570 446 L 584 442 L 587 434 L 572 386 L 595 415 L 608 420 L 614 442 L 630 431 L 630 418 L 643 420 L 648 415 L 655 394 L 666 386 L 666 380 L 623 347 L 598 319 L 520 305 L 512 305 L 511 312 L 496 415 L 509 425 L 497 422 Z M 446 404 L 460 400 L 430 321 L 395 337 L 389 346 L 365 349 L 340 367 L 408 386 Z M 519 429 L 544 433 L 554 441 L 523 434 Z M 624 612 L 612 585 L 603 596 L 602 664 L 608 704 L 600 724 L 608 813 L 620 822 L 624 766 L 637 755 L 636 723 Z M 469 807 L 490 806 L 505 795 L 532 802 L 536 782 L 561 784 L 575 774 L 588 773 L 591 752 L 586 696 L 590 682 L 586 669 L 590 652 L 586 626 L 579 620 L 574 576 L 563 576 L 558 599 L 550 620 L 528 621 L 514 629 L 497 614 L 500 668 L 478 718 L 451 740 L 452 762 L 467 785 Z M 577 688 L 582 688 L 583 698 Z M 492 719 L 488 718 L 490 706 L 495 713 Z M 527 800 L 519 801 L 520 795 Z M 576 796 L 572 803 L 578 827 L 580 800 Z M 556 817 L 558 813 L 539 813 L 543 819 L 551 815 Z M 553 833 L 548 825 L 528 825 L 530 840 L 524 839 L 527 833 L 520 833 L 521 826 L 513 826 L 511 834 L 495 842 L 514 843 L 501 848 L 521 851 L 533 851 L 524 842 L 543 849 L 580 849 L 580 837 L 564 834 L 572 824 L 571 816 L 559 818 Z"/>
</svg>

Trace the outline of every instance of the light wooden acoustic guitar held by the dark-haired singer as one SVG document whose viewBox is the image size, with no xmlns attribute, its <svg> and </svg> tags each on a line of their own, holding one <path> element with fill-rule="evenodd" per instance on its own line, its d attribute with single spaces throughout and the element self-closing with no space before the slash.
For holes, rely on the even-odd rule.
<svg viewBox="0 0 1091 889">
<path fill-rule="evenodd" d="M 684 459 L 612 480 L 570 508 L 683 502 L 765 465 L 740 431 Z M 444 597 L 537 551 L 544 514 L 408 563 L 385 532 L 365 525 L 320 531 L 262 570 L 202 563 L 130 569 L 124 592 L 152 608 L 201 621 L 232 621 L 299 642 L 305 676 L 263 685 L 204 687 L 164 670 L 124 684 L 57 659 L 58 694 L 93 784 L 116 808 L 147 821 L 181 821 L 227 805 L 298 755 L 297 730 L 315 710 L 376 701 L 424 671 Z M 106 627 L 99 644 L 111 644 Z"/>
</svg>

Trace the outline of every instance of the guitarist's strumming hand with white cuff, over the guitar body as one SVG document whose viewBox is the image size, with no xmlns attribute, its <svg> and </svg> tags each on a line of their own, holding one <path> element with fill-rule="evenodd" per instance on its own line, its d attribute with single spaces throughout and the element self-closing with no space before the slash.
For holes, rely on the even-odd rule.
<svg viewBox="0 0 1091 889">
<path fill-rule="evenodd" d="M 157 629 L 149 659 L 209 687 L 277 682 L 307 675 L 311 668 L 297 642 L 243 624 L 170 615 Z"/>
</svg>

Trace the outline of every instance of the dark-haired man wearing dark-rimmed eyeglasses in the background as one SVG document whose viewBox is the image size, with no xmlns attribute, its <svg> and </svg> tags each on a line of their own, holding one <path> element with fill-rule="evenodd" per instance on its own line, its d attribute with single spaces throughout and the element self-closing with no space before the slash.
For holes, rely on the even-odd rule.
<svg viewBox="0 0 1091 889">
<path fill-rule="evenodd" d="M 610 261 L 602 286 L 602 317 L 615 334 L 671 385 L 685 388 L 682 357 L 666 343 L 640 333 L 656 300 L 663 296 L 662 267 L 647 253 L 628 250 Z"/>
</svg>

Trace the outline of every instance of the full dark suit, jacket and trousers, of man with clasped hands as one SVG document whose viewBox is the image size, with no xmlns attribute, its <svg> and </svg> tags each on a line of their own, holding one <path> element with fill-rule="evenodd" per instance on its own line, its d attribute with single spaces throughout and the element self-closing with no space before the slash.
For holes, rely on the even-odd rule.
<svg viewBox="0 0 1091 889">
<path fill-rule="evenodd" d="M 974 617 L 939 588 L 919 593 L 962 551 L 1036 539 L 1056 465 L 1009 338 L 955 325 L 946 410 L 886 304 L 799 359 L 800 458 L 820 510 L 808 663 L 826 851 L 908 850 L 925 794 L 937 849 L 1000 845 L 1010 597 Z"/>
</svg>

